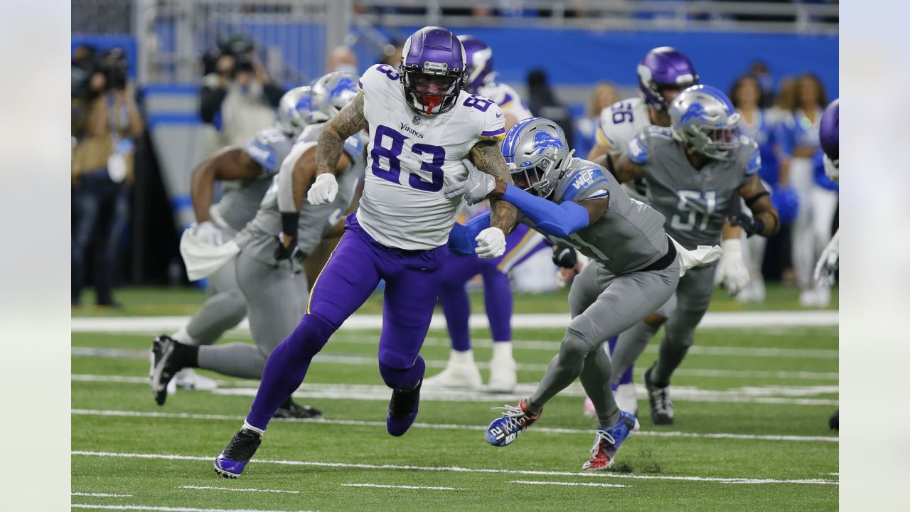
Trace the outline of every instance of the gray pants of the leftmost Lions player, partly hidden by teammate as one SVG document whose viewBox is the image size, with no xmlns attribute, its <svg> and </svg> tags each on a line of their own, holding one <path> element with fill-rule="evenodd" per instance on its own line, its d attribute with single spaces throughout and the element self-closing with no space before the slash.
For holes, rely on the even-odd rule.
<svg viewBox="0 0 910 512">
<path fill-rule="evenodd" d="M 187 323 L 187 334 L 198 345 L 215 343 L 221 334 L 247 317 L 247 301 L 237 283 L 235 260 L 227 261 L 208 277 L 207 294 L 206 302 Z"/>
</svg>

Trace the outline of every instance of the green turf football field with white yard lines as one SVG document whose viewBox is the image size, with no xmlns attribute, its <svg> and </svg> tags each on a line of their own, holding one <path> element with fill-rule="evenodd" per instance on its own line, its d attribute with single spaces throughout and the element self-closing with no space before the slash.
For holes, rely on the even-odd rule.
<svg viewBox="0 0 910 512">
<path fill-rule="evenodd" d="M 187 314 L 200 292 L 136 290 L 116 314 Z M 480 297 L 472 297 L 475 301 Z M 767 310 L 793 290 L 769 290 Z M 836 303 L 836 302 L 835 302 Z M 371 301 L 365 312 L 378 312 Z M 482 308 L 478 308 L 481 310 Z M 720 295 L 713 311 L 756 309 Z M 566 311 L 563 294 L 516 299 L 517 312 Z M 91 308 L 76 314 L 96 314 Z M 105 312 L 104 314 L 113 314 Z M 640 396 L 642 432 L 612 471 L 582 473 L 594 422 L 573 384 L 512 445 L 483 429 L 490 407 L 516 395 L 425 392 L 418 424 L 385 431 L 389 390 L 379 378 L 376 331 L 342 330 L 311 366 L 298 401 L 324 421 L 276 421 L 238 480 L 212 459 L 248 412 L 256 383 L 208 374 L 217 393 L 182 391 L 157 406 L 147 385 L 150 338 L 73 333 L 74 507 L 124 510 L 836 510 L 838 442 L 827 428 L 837 401 L 834 327 L 703 330 L 673 380 L 677 422 L 654 427 Z M 479 339 L 489 332 L 474 331 Z M 249 341 L 242 331 L 231 341 Z M 556 352 L 560 329 L 514 325 L 520 392 Z M 422 351 L 428 374 L 448 357 L 442 331 Z M 490 343 L 475 347 L 481 373 Z M 642 356 L 636 379 L 656 353 Z M 520 394 L 521 394 L 520 393 Z M 386 487 L 384 487 L 386 486 Z M 395 487 L 388 487 L 395 486 Z M 410 487 L 405 487 L 410 486 Z M 76 494 L 78 493 L 78 494 Z M 86 496 L 90 494 L 117 496 Z"/>
</svg>

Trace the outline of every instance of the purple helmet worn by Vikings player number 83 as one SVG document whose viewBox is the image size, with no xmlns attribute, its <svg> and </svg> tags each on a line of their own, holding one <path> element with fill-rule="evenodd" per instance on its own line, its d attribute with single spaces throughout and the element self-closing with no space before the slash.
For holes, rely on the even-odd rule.
<svg viewBox="0 0 910 512">
<path fill-rule="evenodd" d="M 448 28 L 425 26 L 404 42 L 399 70 L 411 108 L 426 115 L 446 112 L 464 87 L 464 47 Z"/>
</svg>

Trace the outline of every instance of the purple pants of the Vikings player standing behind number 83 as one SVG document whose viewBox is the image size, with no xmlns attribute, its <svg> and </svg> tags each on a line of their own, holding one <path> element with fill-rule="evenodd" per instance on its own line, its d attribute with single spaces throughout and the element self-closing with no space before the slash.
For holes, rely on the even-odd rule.
<svg viewBox="0 0 910 512">
<path fill-rule="evenodd" d="M 531 254 L 549 247 L 549 242 L 535 236 L 528 226 L 519 224 L 506 237 L 506 251 L 499 258 L 450 254 L 440 270 L 440 304 L 446 316 L 451 346 L 470 350 L 470 300 L 465 284 L 472 277 L 483 277 L 483 300 L 490 320 L 494 342 L 511 342 L 512 295 L 509 271 Z"/>
</svg>

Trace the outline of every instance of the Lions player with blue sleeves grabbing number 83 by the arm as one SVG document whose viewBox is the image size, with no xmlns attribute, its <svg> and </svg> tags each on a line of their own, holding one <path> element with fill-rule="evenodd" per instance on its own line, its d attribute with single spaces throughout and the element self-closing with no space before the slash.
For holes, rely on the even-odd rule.
<svg viewBox="0 0 910 512">
<path fill-rule="evenodd" d="M 637 420 L 616 406 L 610 356 L 602 343 L 670 298 L 679 281 L 676 249 L 663 230 L 663 216 L 630 200 L 602 167 L 571 158 L 562 129 L 551 120 L 516 123 L 502 142 L 502 154 L 514 186 L 472 170 L 468 181 L 447 195 L 467 192 L 469 202 L 483 197 L 506 200 L 521 211 L 523 222 L 592 261 L 572 283 L 572 319 L 560 353 L 537 391 L 506 406 L 505 414 L 490 424 L 487 441 L 511 444 L 540 417 L 544 404 L 581 378 L 599 421 L 591 458 L 582 469 L 603 469 L 612 464 Z M 482 245 L 482 237 L 479 241 Z"/>
</svg>

